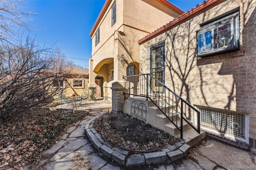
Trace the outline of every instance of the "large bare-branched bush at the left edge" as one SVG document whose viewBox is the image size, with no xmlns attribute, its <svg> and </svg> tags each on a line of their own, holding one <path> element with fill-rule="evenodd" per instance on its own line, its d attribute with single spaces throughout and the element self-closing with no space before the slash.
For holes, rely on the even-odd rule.
<svg viewBox="0 0 256 170">
<path fill-rule="evenodd" d="M 70 66 L 59 48 L 44 48 L 27 38 L 18 45 L 0 46 L 0 119 L 4 122 L 42 105 L 58 93 L 54 80 L 68 75 Z"/>
</svg>

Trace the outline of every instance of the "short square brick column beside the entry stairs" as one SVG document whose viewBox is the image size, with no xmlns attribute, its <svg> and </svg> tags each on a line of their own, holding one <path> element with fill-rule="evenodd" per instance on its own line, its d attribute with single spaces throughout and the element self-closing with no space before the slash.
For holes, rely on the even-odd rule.
<svg viewBox="0 0 256 170">
<path fill-rule="evenodd" d="M 116 81 L 112 83 L 112 112 L 118 113 L 123 111 L 124 107 L 124 82 Z"/>
</svg>

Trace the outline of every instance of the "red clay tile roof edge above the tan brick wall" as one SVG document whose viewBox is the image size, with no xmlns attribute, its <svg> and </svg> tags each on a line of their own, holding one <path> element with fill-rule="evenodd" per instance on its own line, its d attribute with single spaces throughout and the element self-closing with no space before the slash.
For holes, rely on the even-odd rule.
<svg viewBox="0 0 256 170">
<path fill-rule="evenodd" d="M 175 18 L 174 20 L 172 20 L 171 22 L 169 22 L 168 24 L 158 28 L 157 30 L 155 30 L 154 32 L 152 32 L 151 34 L 148 34 L 147 36 L 145 36 L 144 38 L 140 39 L 138 41 L 139 44 L 142 44 L 156 36 L 158 36 L 159 34 L 162 34 L 163 32 L 169 30 L 170 28 L 177 26 L 178 24 L 184 22 L 185 20 L 188 20 L 189 18 L 195 16 L 196 14 L 206 10 L 207 8 L 210 8 L 211 6 L 214 6 L 215 4 L 221 2 L 222 0 L 206 0 L 204 2 L 202 2 L 201 4 L 197 5 L 196 7 L 192 8 L 191 10 L 185 12 L 184 14 L 182 14 L 181 16 L 178 16 L 177 18 Z"/>
</svg>

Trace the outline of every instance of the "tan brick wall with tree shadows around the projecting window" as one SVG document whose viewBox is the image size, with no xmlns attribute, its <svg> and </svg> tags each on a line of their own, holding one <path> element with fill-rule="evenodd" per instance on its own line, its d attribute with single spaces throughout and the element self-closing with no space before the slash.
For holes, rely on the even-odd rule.
<svg viewBox="0 0 256 170">
<path fill-rule="evenodd" d="M 149 73 L 149 47 L 166 43 L 166 86 L 194 105 L 249 114 L 256 139 L 256 1 L 224 0 L 140 45 L 140 67 Z M 202 24 L 240 8 L 240 51 L 200 58 L 196 31 Z"/>
</svg>

